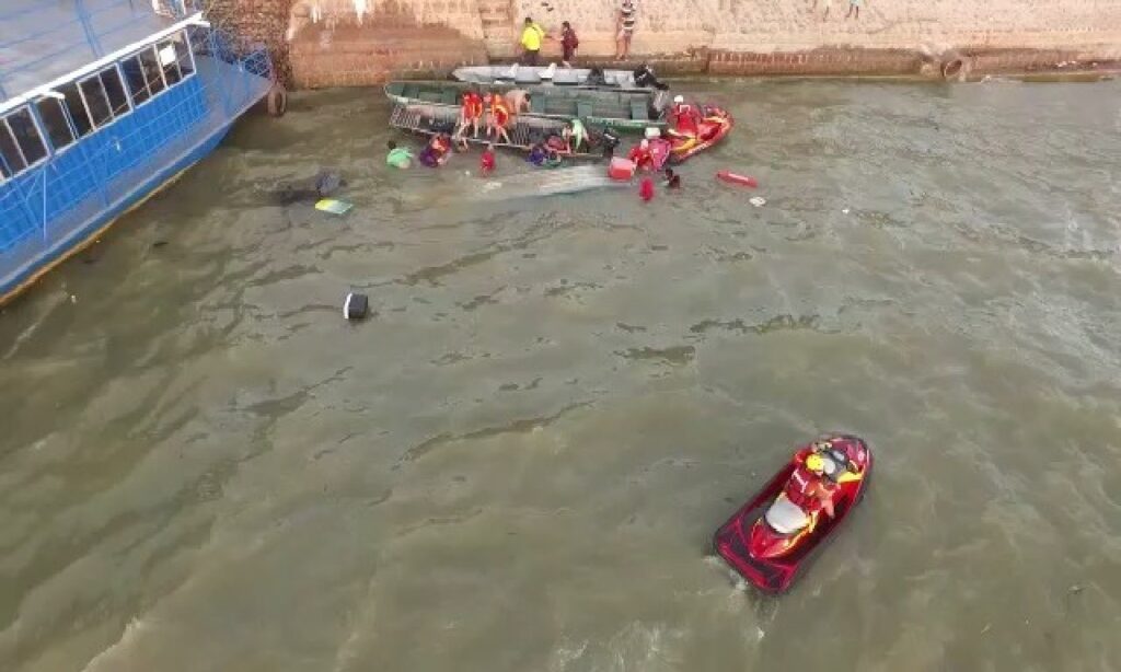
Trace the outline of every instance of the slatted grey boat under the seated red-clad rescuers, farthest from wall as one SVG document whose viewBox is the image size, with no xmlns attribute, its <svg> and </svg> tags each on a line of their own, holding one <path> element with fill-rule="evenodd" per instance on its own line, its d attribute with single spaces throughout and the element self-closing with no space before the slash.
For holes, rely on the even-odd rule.
<svg viewBox="0 0 1121 672">
<path fill-rule="evenodd" d="M 458 116 L 460 109 L 451 105 L 398 103 L 393 105 L 393 110 L 389 114 L 389 125 L 410 133 L 435 136 L 436 133 L 452 133 L 455 130 Z M 518 118 L 517 122 L 507 129 L 510 142 L 494 142 L 494 147 L 529 151 L 534 144 L 545 142 L 550 136 L 560 136 L 565 124 L 565 121 L 556 119 L 541 119 L 522 114 Z M 478 137 L 469 132 L 465 139 L 472 144 L 489 144 L 492 142 L 492 139 L 481 129 Z M 586 150 L 567 156 L 577 159 L 602 158 L 604 146 L 600 137 L 595 136 L 590 141 Z"/>
</svg>

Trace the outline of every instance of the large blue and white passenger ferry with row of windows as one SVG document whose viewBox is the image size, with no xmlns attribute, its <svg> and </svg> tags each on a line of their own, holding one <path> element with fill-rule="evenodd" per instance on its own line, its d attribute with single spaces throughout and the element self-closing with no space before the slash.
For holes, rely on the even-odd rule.
<svg viewBox="0 0 1121 672">
<path fill-rule="evenodd" d="M 205 157 L 274 84 L 202 0 L 0 1 L 0 304 Z"/>
</svg>

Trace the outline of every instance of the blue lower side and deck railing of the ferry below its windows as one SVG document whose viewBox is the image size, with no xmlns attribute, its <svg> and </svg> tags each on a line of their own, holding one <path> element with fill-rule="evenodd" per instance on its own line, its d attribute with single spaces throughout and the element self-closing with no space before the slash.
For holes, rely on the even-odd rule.
<svg viewBox="0 0 1121 672">
<path fill-rule="evenodd" d="M 187 35 L 193 75 L 0 180 L 0 280 L 135 202 L 154 176 L 197 158 L 202 144 L 268 91 L 272 66 L 265 49 L 238 54 L 214 29 L 188 28 Z"/>
</svg>

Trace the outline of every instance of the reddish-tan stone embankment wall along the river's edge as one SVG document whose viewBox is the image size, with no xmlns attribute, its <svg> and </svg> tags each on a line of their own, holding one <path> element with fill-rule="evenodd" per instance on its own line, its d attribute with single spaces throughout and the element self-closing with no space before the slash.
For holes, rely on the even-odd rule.
<svg viewBox="0 0 1121 672">
<path fill-rule="evenodd" d="M 637 0 L 632 60 L 661 72 L 1017 72 L 1121 59 L 1121 0 Z M 361 85 L 510 59 L 520 22 L 568 20 L 578 57 L 614 54 L 614 0 L 212 0 L 297 86 Z M 545 55 L 558 54 L 546 43 Z M 287 66 L 290 64 L 290 69 Z"/>
</svg>

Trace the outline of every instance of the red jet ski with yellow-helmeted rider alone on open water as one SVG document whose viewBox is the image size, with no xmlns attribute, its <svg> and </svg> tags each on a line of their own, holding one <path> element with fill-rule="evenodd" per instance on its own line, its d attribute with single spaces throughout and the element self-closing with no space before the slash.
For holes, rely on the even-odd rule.
<svg viewBox="0 0 1121 672">
<path fill-rule="evenodd" d="M 862 439 L 814 441 L 721 525 L 713 547 L 760 590 L 782 592 L 863 498 L 871 470 Z"/>
</svg>

